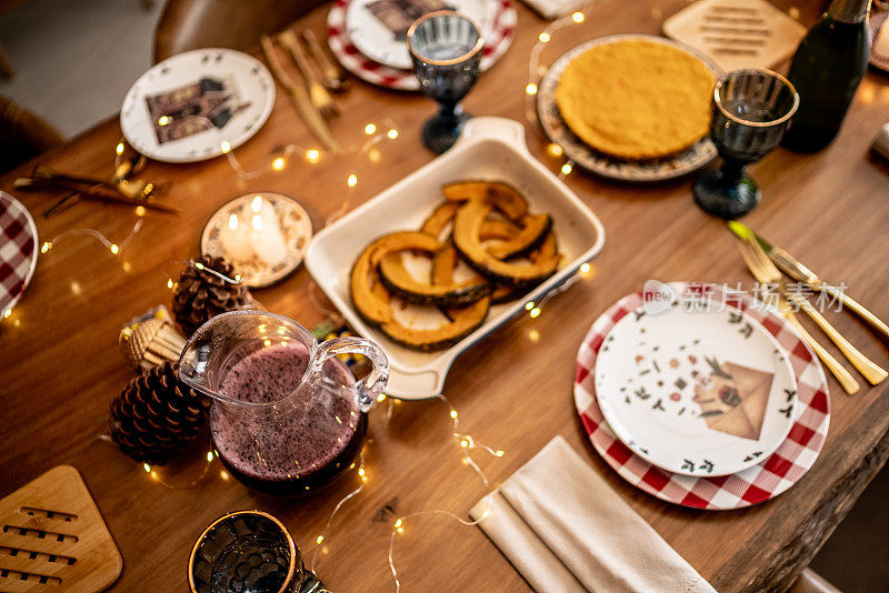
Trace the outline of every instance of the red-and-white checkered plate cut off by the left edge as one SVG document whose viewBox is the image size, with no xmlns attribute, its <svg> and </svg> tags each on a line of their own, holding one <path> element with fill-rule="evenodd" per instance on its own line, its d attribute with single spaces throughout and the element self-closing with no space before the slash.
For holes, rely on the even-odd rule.
<svg viewBox="0 0 889 593">
<path fill-rule="evenodd" d="M 19 301 L 37 268 L 37 227 L 31 213 L 0 191 L 0 314 Z"/>
</svg>

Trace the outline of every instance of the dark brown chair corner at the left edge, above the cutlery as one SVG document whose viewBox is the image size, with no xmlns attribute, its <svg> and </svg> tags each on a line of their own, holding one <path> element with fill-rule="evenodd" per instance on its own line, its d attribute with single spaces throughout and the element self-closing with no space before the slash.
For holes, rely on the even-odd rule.
<svg viewBox="0 0 889 593">
<path fill-rule="evenodd" d="M 64 142 L 49 123 L 0 96 L 0 172 L 9 171 Z"/>
</svg>

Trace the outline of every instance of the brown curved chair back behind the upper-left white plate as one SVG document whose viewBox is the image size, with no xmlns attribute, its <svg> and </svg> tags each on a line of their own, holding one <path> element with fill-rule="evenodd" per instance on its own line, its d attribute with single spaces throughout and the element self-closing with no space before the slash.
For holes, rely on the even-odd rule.
<svg viewBox="0 0 889 593">
<path fill-rule="evenodd" d="M 259 38 L 327 0 L 169 0 L 154 30 L 154 62 L 199 48 L 248 51 Z"/>
</svg>

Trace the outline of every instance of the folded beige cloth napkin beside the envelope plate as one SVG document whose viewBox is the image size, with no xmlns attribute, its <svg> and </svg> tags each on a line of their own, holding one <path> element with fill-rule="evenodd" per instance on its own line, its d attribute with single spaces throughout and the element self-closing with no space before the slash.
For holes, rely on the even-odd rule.
<svg viewBox="0 0 889 593">
<path fill-rule="evenodd" d="M 469 514 L 540 593 L 715 593 L 568 445 L 549 442 Z"/>
</svg>

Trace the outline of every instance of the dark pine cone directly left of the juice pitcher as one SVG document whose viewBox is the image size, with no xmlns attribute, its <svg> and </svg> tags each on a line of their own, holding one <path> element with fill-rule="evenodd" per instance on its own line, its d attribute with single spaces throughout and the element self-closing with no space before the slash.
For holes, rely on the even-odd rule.
<svg viewBox="0 0 889 593">
<path fill-rule="evenodd" d="M 179 382 L 178 368 L 164 362 L 143 372 L 111 402 L 111 438 L 137 461 L 163 465 L 203 425 L 210 402 Z"/>
</svg>

